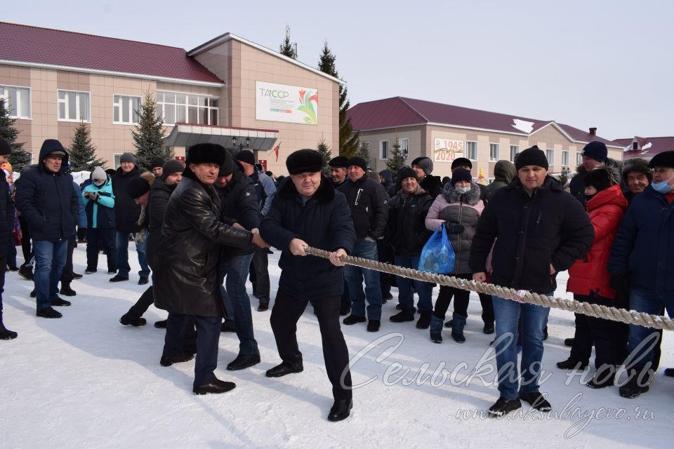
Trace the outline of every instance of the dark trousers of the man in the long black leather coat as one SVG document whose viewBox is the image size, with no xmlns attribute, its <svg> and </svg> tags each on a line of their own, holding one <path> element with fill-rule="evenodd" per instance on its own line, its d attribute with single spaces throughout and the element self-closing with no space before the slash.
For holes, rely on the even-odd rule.
<svg viewBox="0 0 674 449">
<path fill-rule="evenodd" d="M 192 316 L 169 312 L 166 320 L 164 356 L 181 356 L 185 351 L 185 333 L 197 327 L 197 356 L 194 360 L 194 385 L 216 380 L 213 371 L 218 368 L 218 340 L 223 319 L 219 316 Z"/>
</svg>

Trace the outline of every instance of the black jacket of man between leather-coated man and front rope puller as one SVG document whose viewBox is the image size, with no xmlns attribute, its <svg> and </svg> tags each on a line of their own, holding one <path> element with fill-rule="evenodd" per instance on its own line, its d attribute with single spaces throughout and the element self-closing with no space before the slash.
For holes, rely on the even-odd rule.
<svg viewBox="0 0 674 449">
<path fill-rule="evenodd" d="M 220 214 L 223 222 L 227 225 L 233 225 L 235 222 L 251 231 L 260 227 L 262 214 L 260 205 L 256 199 L 255 185 L 250 177 L 244 175 L 234 163 L 232 179 L 227 182 L 225 187 L 216 187 L 220 197 Z M 251 254 L 255 252 L 257 246 L 251 245 L 248 248 L 237 248 L 234 246 L 223 245 L 222 257 L 230 259 L 237 255 Z"/>
</svg>

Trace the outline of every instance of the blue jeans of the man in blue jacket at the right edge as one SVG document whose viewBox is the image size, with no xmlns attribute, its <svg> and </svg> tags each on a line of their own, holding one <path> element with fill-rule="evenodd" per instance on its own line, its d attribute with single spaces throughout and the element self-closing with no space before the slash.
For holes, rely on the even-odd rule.
<svg viewBox="0 0 674 449">
<path fill-rule="evenodd" d="M 659 315 L 663 307 L 667 309 L 667 314 L 670 318 L 674 316 L 674 294 L 659 296 L 652 290 L 640 287 L 633 287 L 630 290 L 630 309 Z M 652 334 L 657 333 L 658 330 L 656 329 L 630 324 L 630 337 L 628 340 L 630 355 L 625 363 L 626 368 L 651 368 L 653 363 L 653 347 L 654 344 L 659 344 L 657 340 L 651 339 L 654 338 Z M 642 344 L 648 337 L 650 337 L 648 342 Z"/>
</svg>

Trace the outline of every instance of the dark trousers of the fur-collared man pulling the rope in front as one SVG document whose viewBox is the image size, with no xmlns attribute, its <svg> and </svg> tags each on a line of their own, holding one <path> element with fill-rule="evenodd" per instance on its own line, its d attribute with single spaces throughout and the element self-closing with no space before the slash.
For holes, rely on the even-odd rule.
<svg viewBox="0 0 674 449">
<path fill-rule="evenodd" d="M 302 353 L 297 344 L 297 321 L 307 308 L 309 300 L 289 295 L 282 290 L 276 295 L 270 319 L 279 356 L 285 363 L 299 363 Z M 323 358 L 335 399 L 350 399 L 351 372 L 349 350 L 339 325 L 340 297 L 324 297 L 311 300 L 318 319 L 323 343 Z M 198 354 L 198 353 L 197 353 Z"/>
</svg>

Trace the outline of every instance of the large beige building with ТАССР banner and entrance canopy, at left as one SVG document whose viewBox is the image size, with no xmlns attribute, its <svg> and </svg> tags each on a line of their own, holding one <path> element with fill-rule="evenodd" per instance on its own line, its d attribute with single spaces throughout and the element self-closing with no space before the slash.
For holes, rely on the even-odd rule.
<svg viewBox="0 0 674 449">
<path fill-rule="evenodd" d="M 69 146 L 88 123 L 107 168 L 135 152 L 131 130 L 145 92 L 157 98 L 176 156 L 197 142 L 252 149 L 268 170 L 286 155 L 338 146 L 340 81 L 234 34 L 192 51 L 0 22 L 0 98 L 34 152 L 43 140 Z M 277 149 L 278 148 L 278 149 Z"/>
</svg>

